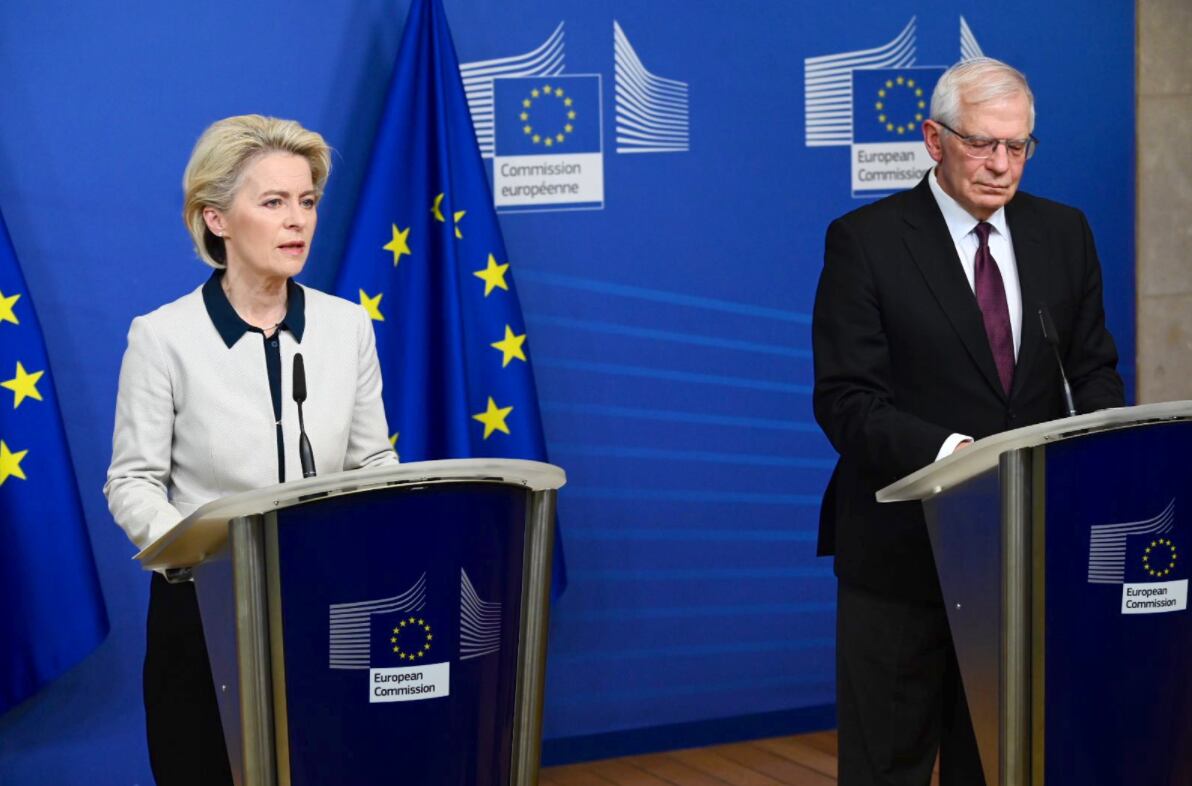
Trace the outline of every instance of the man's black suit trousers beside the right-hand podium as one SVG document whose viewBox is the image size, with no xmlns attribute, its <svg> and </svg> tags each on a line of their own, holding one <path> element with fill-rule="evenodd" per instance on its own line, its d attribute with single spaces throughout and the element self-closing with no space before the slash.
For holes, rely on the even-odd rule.
<svg viewBox="0 0 1192 786">
<path fill-rule="evenodd" d="M 842 581 L 836 637 L 840 786 L 983 786 L 944 608 Z"/>
</svg>

